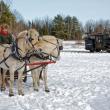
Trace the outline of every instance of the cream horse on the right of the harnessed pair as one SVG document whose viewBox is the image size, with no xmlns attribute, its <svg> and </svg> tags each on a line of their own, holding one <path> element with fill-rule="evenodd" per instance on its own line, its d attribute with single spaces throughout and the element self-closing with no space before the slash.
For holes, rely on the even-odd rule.
<svg viewBox="0 0 110 110">
<path fill-rule="evenodd" d="M 50 61 L 53 59 L 54 61 L 57 61 L 60 57 L 60 51 L 63 47 L 63 40 L 55 38 L 54 36 L 42 36 L 42 38 L 37 43 L 37 47 L 40 48 L 42 55 L 44 55 L 44 58 L 30 58 L 31 62 L 44 62 L 44 61 Z M 46 57 L 47 60 L 45 59 Z M 39 66 L 39 65 L 37 65 Z M 34 66 L 30 66 L 30 68 L 34 68 Z M 41 65 L 39 68 L 34 69 L 32 72 L 32 78 L 33 78 L 33 87 L 35 91 L 38 91 L 38 86 L 40 83 L 40 79 L 43 80 L 45 91 L 49 92 L 48 84 L 47 84 L 47 65 Z"/>
</svg>

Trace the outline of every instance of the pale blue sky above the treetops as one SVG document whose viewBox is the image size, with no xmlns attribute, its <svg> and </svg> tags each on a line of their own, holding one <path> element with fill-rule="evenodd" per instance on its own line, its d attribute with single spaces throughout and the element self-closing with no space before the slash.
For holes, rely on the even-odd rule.
<svg viewBox="0 0 110 110">
<path fill-rule="evenodd" d="M 90 19 L 110 19 L 110 0 L 12 0 L 26 20 L 54 17 L 57 14 L 76 16 L 83 24 Z"/>
</svg>

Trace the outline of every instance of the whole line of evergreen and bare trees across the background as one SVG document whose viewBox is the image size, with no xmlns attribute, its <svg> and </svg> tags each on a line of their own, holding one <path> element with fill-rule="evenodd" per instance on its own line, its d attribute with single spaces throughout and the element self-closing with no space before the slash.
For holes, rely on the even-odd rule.
<svg viewBox="0 0 110 110">
<path fill-rule="evenodd" d="M 53 19 L 45 17 L 25 22 L 17 10 L 10 10 L 10 5 L 0 1 L 0 24 L 7 23 L 10 31 L 18 33 L 24 29 L 36 28 L 40 35 L 54 35 L 65 40 L 81 40 L 86 32 L 110 31 L 110 20 L 89 20 L 83 26 L 75 16 L 56 15 Z"/>
</svg>

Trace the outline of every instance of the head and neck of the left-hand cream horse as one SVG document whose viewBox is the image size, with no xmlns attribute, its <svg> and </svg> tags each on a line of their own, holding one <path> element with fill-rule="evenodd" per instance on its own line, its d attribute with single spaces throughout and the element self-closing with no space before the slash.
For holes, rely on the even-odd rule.
<svg viewBox="0 0 110 110">
<path fill-rule="evenodd" d="M 34 45 L 38 42 L 39 33 L 35 29 L 25 30 L 17 36 L 18 48 L 21 56 L 25 56 L 27 51 L 34 49 Z"/>
</svg>

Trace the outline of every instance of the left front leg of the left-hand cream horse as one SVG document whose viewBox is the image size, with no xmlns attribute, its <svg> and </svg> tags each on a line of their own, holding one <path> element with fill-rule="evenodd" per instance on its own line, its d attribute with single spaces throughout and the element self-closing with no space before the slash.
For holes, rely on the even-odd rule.
<svg viewBox="0 0 110 110">
<path fill-rule="evenodd" d="M 14 86 L 14 70 L 10 69 L 9 96 L 14 96 L 13 86 Z"/>
</svg>

